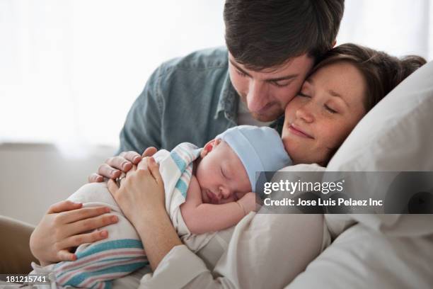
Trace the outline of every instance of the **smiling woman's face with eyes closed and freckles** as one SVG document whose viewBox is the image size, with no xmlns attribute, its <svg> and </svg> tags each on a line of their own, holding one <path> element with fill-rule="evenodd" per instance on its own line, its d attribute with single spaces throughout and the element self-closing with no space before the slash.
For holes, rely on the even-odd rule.
<svg viewBox="0 0 433 289">
<path fill-rule="evenodd" d="M 350 62 L 321 67 L 285 110 L 282 141 L 294 164 L 325 165 L 365 115 L 365 81 Z"/>
</svg>

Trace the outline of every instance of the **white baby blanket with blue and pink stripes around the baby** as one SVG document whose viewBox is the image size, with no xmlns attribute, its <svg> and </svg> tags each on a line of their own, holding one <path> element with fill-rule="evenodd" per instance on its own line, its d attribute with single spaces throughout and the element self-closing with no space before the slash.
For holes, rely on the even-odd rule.
<svg viewBox="0 0 433 289">
<path fill-rule="evenodd" d="M 198 251 L 212 238 L 213 233 L 194 235 L 185 225 L 180 205 L 185 202 L 192 176 L 193 162 L 200 156 L 198 147 L 182 143 L 171 152 L 160 150 L 154 155 L 166 192 L 166 210 L 179 237 L 192 250 Z M 108 206 L 119 222 L 108 225 L 108 238 L 76 249 L 76 261 L 62 261 L 50 265 L 55 283 L 81 288 L 110 288 L 110 280 L 125 276 L 145 266 L 142 242 L 132 224 L 108 191 L 107 183 L 88 183 L 68 200 L 83 203 L 83 207 Z M 145 247 L 145 246 L 144 246 Z"/>
</svg>

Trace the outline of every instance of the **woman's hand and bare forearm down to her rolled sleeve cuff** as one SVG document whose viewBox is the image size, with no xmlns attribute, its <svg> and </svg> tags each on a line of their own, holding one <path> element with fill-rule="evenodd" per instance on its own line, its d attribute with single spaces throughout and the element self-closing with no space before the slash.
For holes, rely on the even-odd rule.
<svg viewBox="0 0 433 289">
<path fill-rule="evenodd" d="M 182 244 L 166 212 L 158 164 L 154 158 L 145 157 L 137 169 L 127 173 L 120 188 L 109 180 L 108 190 L 146 244 L 147 259 L 155 270 L 174 246 Z"/>
</svg>

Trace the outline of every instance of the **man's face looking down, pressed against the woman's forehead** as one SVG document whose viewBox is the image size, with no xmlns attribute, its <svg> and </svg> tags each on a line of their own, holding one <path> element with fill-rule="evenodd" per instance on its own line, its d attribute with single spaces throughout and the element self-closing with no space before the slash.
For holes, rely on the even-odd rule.
<svg viewBox="0 0 433 289">
<path fill-rule="evenodd" d="M 284 113 L 284 108 L 296 96 L 313 62 L 313 58 L 304 54 L 280 67 L 255 72 L 237 63 L 229 53 L 229 74 L 234 89 L 253 117 L 265 122 L 275 120 Z"/>
</svg>

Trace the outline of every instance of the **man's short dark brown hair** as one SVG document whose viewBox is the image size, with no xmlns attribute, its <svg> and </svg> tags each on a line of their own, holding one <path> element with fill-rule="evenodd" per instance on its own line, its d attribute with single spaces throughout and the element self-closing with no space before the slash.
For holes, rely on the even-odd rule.
<svg viewBox="0 0 433 289">
<path fill-rule="evenodd" d="M 255 71 L 333 47 L 344 0 L 226 0 L 226 45 L 236 62 Z"/>
</svg>

